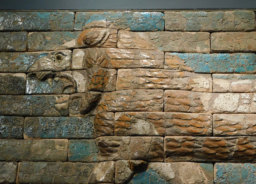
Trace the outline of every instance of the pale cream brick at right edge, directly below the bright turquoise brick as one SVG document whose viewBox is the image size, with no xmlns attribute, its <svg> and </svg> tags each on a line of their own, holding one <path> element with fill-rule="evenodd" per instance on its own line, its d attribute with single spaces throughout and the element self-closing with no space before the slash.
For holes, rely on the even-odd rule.
<svg viewBox="0 0 256 184">
<path fill-rule="evenodd" d="M 213 92 L 256 92 L 256 75 L 213 74 Z"/>
</svg>

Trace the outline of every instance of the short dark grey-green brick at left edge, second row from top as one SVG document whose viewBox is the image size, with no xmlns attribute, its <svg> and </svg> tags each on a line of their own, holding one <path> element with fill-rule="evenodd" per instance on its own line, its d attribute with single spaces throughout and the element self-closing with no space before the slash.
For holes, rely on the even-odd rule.
<svg viewBox="0 0 256 184">
<path fill-rule="evenodd" d="M 27 37 L 27 32 L 0 32 L 0 52 L 26 51 Z"/>
</svg>

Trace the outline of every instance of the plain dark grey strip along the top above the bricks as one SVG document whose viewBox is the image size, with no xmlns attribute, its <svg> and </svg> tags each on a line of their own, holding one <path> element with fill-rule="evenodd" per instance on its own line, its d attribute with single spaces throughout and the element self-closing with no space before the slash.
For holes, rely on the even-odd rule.
<svg viewBox="0 0 256 184">
<path fill-rule="evenodd" d="M 0 0 L 0 10 L 256 9 L 256 0 Z"/>
</svg>

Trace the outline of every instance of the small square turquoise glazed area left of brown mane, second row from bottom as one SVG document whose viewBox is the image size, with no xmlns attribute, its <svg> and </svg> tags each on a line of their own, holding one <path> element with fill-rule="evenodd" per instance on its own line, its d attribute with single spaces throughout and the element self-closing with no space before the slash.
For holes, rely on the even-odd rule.
<svg viewBox="0 0 256 184">
<path fill-rule="evenodd" d="M 70 140 L 68 143 L 69 162 L 97 162 L 98 148 L 93 139 Z"/>
</svg>

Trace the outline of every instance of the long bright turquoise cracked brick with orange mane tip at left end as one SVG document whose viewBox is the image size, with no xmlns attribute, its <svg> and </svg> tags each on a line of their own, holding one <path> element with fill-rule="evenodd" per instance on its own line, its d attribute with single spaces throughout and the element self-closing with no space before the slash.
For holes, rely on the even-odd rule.
<svg viewBox="0 0 256 184">
<path fill-rule="evenodd" d="M 165 53 L 164 69 L 196 73 L 256 73 L 254 53 Z"/>
</svg>

